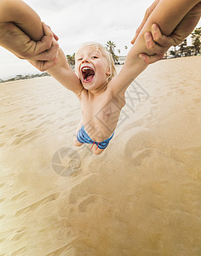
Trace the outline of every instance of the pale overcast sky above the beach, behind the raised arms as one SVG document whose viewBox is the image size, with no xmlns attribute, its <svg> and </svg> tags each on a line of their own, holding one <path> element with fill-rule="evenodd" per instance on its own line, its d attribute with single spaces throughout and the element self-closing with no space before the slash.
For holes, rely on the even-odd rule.
<svg viewBox="0 0 201 256">
<path fill-rule="evenodd" d="M 59 36 L 66 54 L 88 41 L 113 41 L 125 55 L 130 40 L 153 0 L 26 0 L 41 19 Z M 201 26 L 199 21 L 198 26 Z M 0 79 L 16 74 L 37 73 L 27 61 L 0 47 Z"/>
</svg>

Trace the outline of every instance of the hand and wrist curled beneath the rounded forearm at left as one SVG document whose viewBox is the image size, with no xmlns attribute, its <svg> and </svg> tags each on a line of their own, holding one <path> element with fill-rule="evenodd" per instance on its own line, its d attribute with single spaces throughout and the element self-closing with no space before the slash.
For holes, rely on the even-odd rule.
<svg viewBox="0 0 201 256">
<path fill-rule="evenodd" d="M 43 33 L 43 38 L 35 42 L 14 23 L 0 23 L 0 45 L 20 59 L 53 61 L 59 48 L 58 38 L 44 23 Z"/>
</svg>

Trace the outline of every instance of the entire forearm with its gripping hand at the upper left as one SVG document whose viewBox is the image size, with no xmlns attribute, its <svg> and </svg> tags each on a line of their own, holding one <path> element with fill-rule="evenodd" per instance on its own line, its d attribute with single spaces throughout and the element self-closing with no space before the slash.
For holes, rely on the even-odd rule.
<svg viewBox="0 0 201 256">
<path fill-rule="evenodd" d="M 53 33 L 43 35 L 40 17 L 26 3 L 0 0 L 1 46 L 22 59 L 50 61 L 58 49 L 58 45 L 52 44 Z"/>
</svg>

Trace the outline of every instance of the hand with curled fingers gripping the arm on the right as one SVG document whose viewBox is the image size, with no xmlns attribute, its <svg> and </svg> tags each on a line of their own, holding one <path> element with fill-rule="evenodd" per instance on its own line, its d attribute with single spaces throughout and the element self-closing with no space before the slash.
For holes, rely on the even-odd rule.
<svg viewBox="0 0 201 256">
<path fill-rule="evenodd" d="M 146 64 L 152 64 L 156 61 L 163 59 L 164 53 L 175 42 L 173 38 L 162 35 L 157 24 L 152 25 L 152 33 L 146 32 L 144 34 L 146 41 L 146 48 L 149 49 L 154 55 L 140 54 L 139 57 L 145 61 Z"/>
</svg>

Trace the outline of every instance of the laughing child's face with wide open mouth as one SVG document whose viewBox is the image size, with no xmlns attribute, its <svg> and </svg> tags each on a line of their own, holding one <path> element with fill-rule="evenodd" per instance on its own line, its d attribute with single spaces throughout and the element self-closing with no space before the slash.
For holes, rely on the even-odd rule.
<svg viewBox="0 0 201 256">
<path fill-rule="evenodd" d="M 83 87 L 87 90 L 97 89 L 106 84 L 106 79 L 110 74 L 105 55 L 93 45 L 78 51 L 76 69 Z"/>
</svg>

